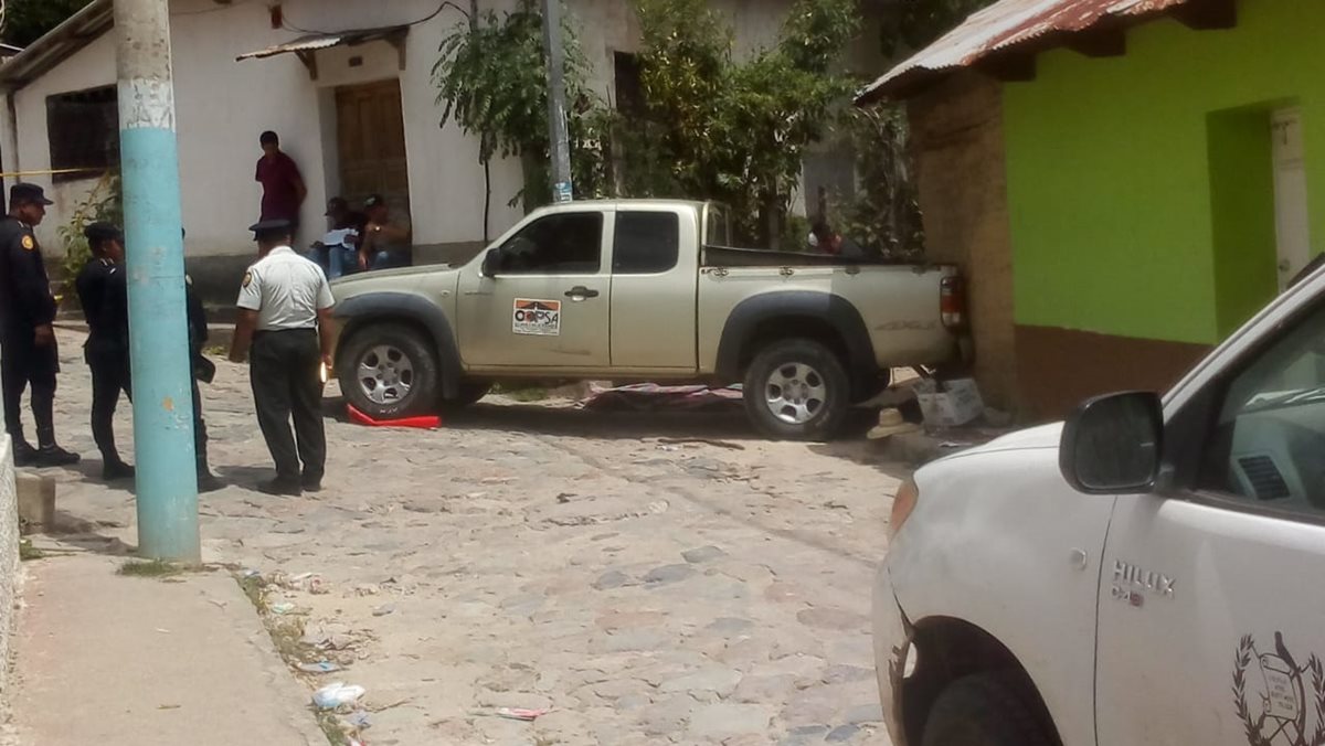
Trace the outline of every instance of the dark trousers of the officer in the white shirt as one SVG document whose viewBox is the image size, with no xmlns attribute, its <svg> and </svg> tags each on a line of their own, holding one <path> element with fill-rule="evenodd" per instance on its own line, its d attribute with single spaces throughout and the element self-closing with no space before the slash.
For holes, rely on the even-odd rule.
<svg viewBox="0 0 1325 746">
<path fill-rule="evenodd" d="M 321 481 L 327 441 L 322 423 L 322 348 L 315 329 L 258 331 L 249 352 L 257 424 L 276 461 L 277 478 Z M 290 436 L 290 417 L 294 436 Z"/>
</svg>

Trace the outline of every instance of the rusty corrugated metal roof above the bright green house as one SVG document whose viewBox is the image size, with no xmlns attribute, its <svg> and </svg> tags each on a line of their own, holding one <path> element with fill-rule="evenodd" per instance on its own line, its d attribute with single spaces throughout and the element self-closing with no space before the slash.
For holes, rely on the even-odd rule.
<svg viewBox="0 0 1325 746">
<path fill-rule="evenodd" d="M 869 103 L 917 78 L 970 66 L 994 53 L 1051 44 L 1109 21 L 1136 23 L 1190 0 L 1002 0 L 973 13 L 959 27 L 865 86 L 857 103 Z"/>
</svg>

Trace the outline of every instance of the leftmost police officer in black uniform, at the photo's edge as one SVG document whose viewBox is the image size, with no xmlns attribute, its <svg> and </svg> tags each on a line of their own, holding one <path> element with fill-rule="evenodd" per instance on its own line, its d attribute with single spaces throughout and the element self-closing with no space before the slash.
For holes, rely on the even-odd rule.
<svg viewBox="0 0 1325 746">
<path fill-rule="evenodd" d="M 9 189 L 9 215 L 0 221 L 0 387 L 4 390 L 5 431 L 13 439 L 20 466 L 65 466 L 78 454 L 56 445 L 56 299 L 32 229 L 54 204 L 36 184 Z M 23 436 L 23 392 L 32 387 L 32 417 L 37 448 Z"/>
</svg>

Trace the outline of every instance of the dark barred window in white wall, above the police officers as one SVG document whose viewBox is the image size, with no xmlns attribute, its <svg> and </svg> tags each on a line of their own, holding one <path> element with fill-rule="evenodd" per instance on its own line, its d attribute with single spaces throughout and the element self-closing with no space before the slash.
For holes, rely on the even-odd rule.
<svg viewBox="0 0 1325 746">
<path fill-rule="evenodd" d="M 115 86 L 46 97 L 46 136 L 56 182 L 90 179 L 119 166 L 119 105 Z"/>
</svg>

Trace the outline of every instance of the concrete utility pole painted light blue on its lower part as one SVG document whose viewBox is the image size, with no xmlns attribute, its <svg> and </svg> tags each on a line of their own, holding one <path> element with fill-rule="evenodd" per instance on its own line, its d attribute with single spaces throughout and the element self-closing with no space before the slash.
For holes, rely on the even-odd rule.
<svg viewBox="0 0 1325 746">
<path fill-rule="evenodd" d="M 167 0 L 115 0 L 138 549 L 200 562 Z"/>
</svg>

